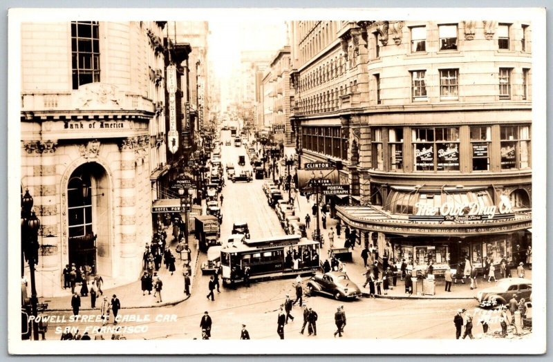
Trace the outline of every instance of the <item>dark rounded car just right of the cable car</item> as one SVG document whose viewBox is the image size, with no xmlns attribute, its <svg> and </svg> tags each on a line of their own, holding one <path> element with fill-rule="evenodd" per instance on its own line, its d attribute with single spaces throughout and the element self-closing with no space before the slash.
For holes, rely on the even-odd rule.
<svg viewBox="0 0 553 362">
<path fill-rule="evenodd" d="M 337 300 L 361 296 L 359 287 L 342 272 L 316 273 L 308 280 L 307 290 L 309 296 L 319 293 L 333 296 Z"/>
</svg>

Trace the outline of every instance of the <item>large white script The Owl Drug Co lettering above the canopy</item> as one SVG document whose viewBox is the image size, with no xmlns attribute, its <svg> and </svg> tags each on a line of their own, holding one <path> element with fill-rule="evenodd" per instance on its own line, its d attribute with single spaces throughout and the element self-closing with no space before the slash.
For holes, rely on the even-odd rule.
<svg viewBox="0 0 553 362">
<path fill-rule="evenodd" d="M 496 212 L 499 213 L 512 213 L 513 208 L 511 202 L 506 198 L 499 202 L 499 205 L 480 205 L 478 202 L 465 202 L 462 204 L 454 202 L 444 202 L 440 207 L 434 207 L 428 204 L 417 202 L 415 204 L 417 208 L 416 216 L 474 216 L 481 215 L 488 218 L 494 218 Z"/>
</svg>

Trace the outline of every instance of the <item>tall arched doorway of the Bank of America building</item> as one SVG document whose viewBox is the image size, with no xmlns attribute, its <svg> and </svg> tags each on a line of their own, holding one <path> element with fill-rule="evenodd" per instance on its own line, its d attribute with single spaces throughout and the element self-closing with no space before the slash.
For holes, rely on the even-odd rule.
<svg viewBox="0 0 553 362">
<path fill-rule="evenodd" d="M 107 189 L 106 171 L 95 162 L 77 167 L 67 184 L 68 263 L 77 269 L 89 266 L 93 273 L 101 266 L 104 275 L 109 251 Z"/>
</svg>

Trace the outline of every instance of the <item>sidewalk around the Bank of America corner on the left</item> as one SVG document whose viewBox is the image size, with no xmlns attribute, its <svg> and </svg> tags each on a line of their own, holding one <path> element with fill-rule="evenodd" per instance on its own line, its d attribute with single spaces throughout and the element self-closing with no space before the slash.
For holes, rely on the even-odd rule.
<svg viewBox="0 0 553 362">
<path fill-rule="evenodd" d="M 172 226 L 166 230 L 167 232 L 167 245 L 171 249 L 171 253 L 176 257 L 175 267 L 176 271 L 174 275 L 171 276 L 169 269 L 165 267 L 165 264 L 162 263 L 159 271 L 157 272 L 161 281 L 163 282 L 162 287 L 162 303 L 156 303 L 158 300 L 157 297 L 153 296 L 153 290 L 151 295 L 146 294 L 142 295 L 142 282 L 140 278 L 135 280 L 132 283 L 126 285 L 113 286 L 113 282 L 106 280 L 104 277 L 104 284 L 102 285 L 102 291 L 104 292 L 103 296 L 100 294 L 96 299 L 96 309 L 91 308 L 91 298 L 90 294 L 88 296 L 81 296 L 81 308 L 80 310 L 100 310 L 100 305 L 102 303 L 102 298 L 104 296 L 108 297 L 108 301 L 111 301 L 113 294 L 117 295 L 121 302 L 121 308 L 149 308 L 149 307 L 163 307 L 165 305 L 175 305 L 187 299 L 187 296 L 184 294 L 185 289 L 185 277 L 182 275 L 183 272 L 183 263 L 180 260 L 180 254 L 175 251 L 177 245 L 176 242 L 171 242 L 173 239 L 172 236 Z M 197 263 L 198 263 L 198 249 L 196 248 L 197 242 L 194 238 L 194 234 L 189 235 L 189 247 L 192 251 L 191 253 L 191 268 L 192 275 L 190 276 L 191 286 L 190 290 L 194 286 L 194 275 L 196 274 Z M 141 274 L 142 275 L 142 274 Z M 154 280 L 155 281 L 155 280 Z M 65 294 L 62 296 L 55 297 L 46 297 L 39 298 L 39 303 L 47 303 L 48 311 L 61 311 L 61 310 L 72 310 L 71 309 L 71 289 L 62 289 L 62 292 L 59 294 Z M 75 291 L 80 291 L 80 285 L 75 287 Z"/>
</svg>

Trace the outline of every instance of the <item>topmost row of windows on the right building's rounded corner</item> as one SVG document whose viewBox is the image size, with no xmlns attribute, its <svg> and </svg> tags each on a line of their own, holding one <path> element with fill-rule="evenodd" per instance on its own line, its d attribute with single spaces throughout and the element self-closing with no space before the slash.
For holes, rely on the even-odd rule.
<svg viewBox="0 0 553 362">
<path fill-rule="evenodd" d="M 411 26 L 409 27 L 410 52 L 411 53 L 427 53 L 427 40 L 428 32 L 431 29 L 429 26 Z M 518 50 L 521 52 L 529 51 L 529 26 L 521 24 L 520 35 L 515 36 L 513 24 L 510 23 L 498 23 L 497 26 L 497 49 L 498 50 Z M 440 24 L 438 25 L 438 52 L 443 51 L 455 51 L 459 50 L 458 44 L 458 24 Z M 375 47 L 373 51 L 373 58 L 379 58 L 382 48 L 382 44 L 378 41 L 379 33 L 373 32 L 373 38 L 375 39 Z M 516 41 L 520 42 L 520 46 L 516 44 Z"/>
</svg>

